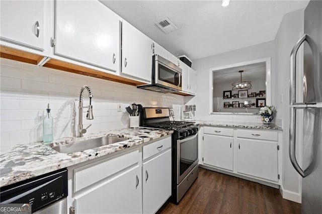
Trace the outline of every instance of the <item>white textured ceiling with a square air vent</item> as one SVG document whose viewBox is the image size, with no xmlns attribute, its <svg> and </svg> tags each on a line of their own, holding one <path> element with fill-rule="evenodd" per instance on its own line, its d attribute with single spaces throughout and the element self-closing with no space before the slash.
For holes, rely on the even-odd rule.
<svg viewBox="0 0 322 214">
<path fill-rule="evenodd" d="M 176 56 L 190 59 L 272 41 L 284 14 L 308 1 L 107 1 L 101 2 Z M 155 22 L 169 17 L 178 27 L 165 34 Z"/>
</svg>

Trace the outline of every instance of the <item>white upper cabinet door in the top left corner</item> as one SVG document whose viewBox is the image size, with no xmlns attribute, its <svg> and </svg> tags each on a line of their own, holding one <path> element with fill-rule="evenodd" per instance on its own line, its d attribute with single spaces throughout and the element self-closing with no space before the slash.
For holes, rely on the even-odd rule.
<svg viewBox="0 0 322 214">
<path fill-rule="evenodd" d="M 1 40 L 44 50 L 44 1 L 1 1 Z"/>
</svg>

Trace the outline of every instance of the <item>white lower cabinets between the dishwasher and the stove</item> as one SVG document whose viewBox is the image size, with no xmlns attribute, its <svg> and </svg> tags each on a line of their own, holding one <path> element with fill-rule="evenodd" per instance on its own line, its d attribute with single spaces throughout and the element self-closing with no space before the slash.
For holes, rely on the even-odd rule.
<svg viewBox="0 0 322 214">
<path fill-rule="evenodd" d="M 169 136 L 68 167 L 70 213 L 156 212 L 171 196 L 171 152 Z"/>
</svg>

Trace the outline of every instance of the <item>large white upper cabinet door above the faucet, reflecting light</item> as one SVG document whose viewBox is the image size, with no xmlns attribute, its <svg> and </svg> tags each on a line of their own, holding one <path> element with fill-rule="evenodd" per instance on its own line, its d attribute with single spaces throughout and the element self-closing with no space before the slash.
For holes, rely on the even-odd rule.
<svg viewBox="0 0 322 214">
<path fill-rule="evenodd" d="M 55 3 L 54 54 L 117 71 L 119 17 L 99 1 Z"/>
</svg>

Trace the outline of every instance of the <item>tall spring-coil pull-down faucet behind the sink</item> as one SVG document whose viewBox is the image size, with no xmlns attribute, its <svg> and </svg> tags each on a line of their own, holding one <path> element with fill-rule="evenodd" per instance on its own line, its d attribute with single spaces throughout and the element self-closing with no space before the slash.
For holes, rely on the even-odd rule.
<svg viewBox="0 0 322 214">
<path fill-rule="evenodd" d="M 84 90 L 87 89 L 87 92 L 89 93 L 89 98 L 90 98 L 90 104 L 87 107 L 83 106 L 83 95 L 84 95 Z M 81 88 L 81 93 L 79 93 L 79 103 L 78 103 L 78 137 L 83 137 L 83 134 L 86 133 L 87 129 L 92 126 L 90 124 L 86 129 L 83 129 L 83 109 L 87 108 L 87 115 L 86 119 L 87 120 L 93 120 L 93 106 L 92 106 L 92 89 L 88 85 L 84 85 Z"/>
</svg>

